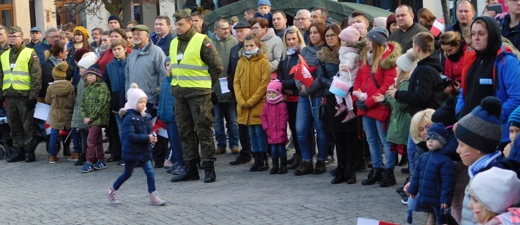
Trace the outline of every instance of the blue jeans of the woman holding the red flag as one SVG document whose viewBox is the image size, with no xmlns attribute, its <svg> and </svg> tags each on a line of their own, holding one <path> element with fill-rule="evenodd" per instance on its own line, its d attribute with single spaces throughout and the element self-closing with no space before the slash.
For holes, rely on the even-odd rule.
<svg viewBox="0 0 520 225">
<path fill-rule="evenodd" d="M 310 146 L 309 122 L 314 121 L 316 129 L 316 139 L 318 153 L 317 160 L 325 160 L 327 155 L 327 148 L 329 145 L 329 131 L 326 130 L 324 121 L 319 120 L 319 105 L 322 105 L 321 97 L 300 97 L 298 100 L 298 109 L 296 110 L 296 135 L 298 136 L 298 143 L 302 152 L 302 159 L 305 161 L 312 160 L 312 150 L 314 146 Z"/>
</svg>

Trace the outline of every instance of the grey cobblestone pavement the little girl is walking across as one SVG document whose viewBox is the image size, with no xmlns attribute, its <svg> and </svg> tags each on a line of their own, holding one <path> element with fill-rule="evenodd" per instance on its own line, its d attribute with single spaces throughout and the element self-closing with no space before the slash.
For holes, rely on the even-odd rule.
<svg viewBox="0 0 520 225">
<path fill-rule="evenodd" d="M 368 170 L 357 173 L 357 184 L 332 185 L 328 172 L 272 175 L 249 172 L 251 163 L 231 166 L 229 149 L 217 159 L 212 184 L 203 183 L 203 171 L 199 181 L 174 184 L 165 169 L 156 169 L 158 193 L 168 201 L 162 207 L 148 205 L 146 176 L 136 168 L 118 191 L 122 205 L 112 206 L 104 193 L 122 166 L 112 162 L 82 174 L 63 157 L 49 164 L 40 143 L 36 162 L 0 162 L 0 224 L 356 224 L 357 217 L 405 224 L 407 207 L 397 186 L 362 186 Z M 395 174 L 402 184 L 399 169 Z M 414 221 L 424 221 L 424 214 L 414 214 Z"/>
</svg>

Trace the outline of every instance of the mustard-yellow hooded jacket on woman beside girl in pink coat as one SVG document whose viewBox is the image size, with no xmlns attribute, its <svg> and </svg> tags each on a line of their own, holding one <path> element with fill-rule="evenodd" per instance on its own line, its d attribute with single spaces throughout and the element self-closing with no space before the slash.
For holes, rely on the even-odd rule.
<svg viewBox="0 0 520 225">
<path fill-rule="evenodd" d="M 260 114 L 264 106 L 267 84 L 269 84 L 269 60 L 266 56 L 267 47 L 260 44 L 258 53 L 251 59 L 243 56 L 243 49 L 239 51 L 239 65 L 236 67 L 233 82 L 236 96 L 236 113 L 239 124 L 260 125 Z M 249 108 L 243 108 L 248 105 Z"/>
</svg>

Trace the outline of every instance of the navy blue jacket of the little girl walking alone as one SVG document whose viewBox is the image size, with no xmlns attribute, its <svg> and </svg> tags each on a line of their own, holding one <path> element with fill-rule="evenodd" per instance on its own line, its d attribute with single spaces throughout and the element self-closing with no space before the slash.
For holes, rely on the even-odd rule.
<svg viewBox="0 0 520 225">
<path fill-rule="evenodd" d="M 122 142 L 123 160 L 151 160 L 152 147 L 148 135 L 152 134 L 152 116 L 149 113 L 142 116 L 136 110 L 121 110 L 120 115 L 123 117 L 122 133 L 125 137 Z"/>
</svg>

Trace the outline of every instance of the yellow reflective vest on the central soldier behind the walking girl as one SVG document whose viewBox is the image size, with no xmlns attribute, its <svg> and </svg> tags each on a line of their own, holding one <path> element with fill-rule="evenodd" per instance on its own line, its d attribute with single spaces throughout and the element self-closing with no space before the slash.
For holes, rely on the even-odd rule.
<svg viewBox="0 0 520 225">
<path fill-rule="evenodd" d="M 201 60 L 201 47 L 206 36 L 196 33 L 186 46 L 182 60 L 177 64 L 177 47 L 179 39 L 170 44 L 170 67 L 172 68 L 172 86 L 211 88 L 211 76 L 208 65 Z"/>
</svg>

